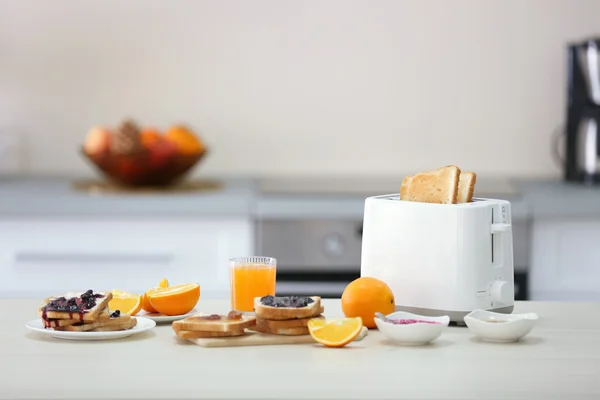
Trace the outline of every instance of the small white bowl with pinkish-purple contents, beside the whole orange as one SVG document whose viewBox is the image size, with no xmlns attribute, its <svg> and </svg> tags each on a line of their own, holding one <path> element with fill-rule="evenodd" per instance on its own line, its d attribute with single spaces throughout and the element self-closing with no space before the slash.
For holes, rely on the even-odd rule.
<svg viewBox="0 0 600 400">
<path fill-rule="evenodd" d="M 450 323 L 450 317 L 426 317 L 424 315 L 397 311 L 385 316 L 387 319 L 401 320 L 414 319 L 435 323 L 417 322 L 412 324 L 394 324 L 375 317 L 375 324 L 379 331 L 388 339 L 403 345 L 425 345 L 437 339 L 442 330 Z"/>
</svg>

